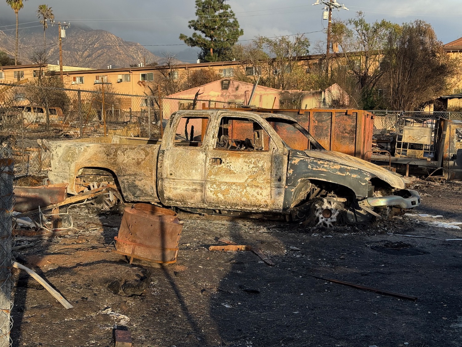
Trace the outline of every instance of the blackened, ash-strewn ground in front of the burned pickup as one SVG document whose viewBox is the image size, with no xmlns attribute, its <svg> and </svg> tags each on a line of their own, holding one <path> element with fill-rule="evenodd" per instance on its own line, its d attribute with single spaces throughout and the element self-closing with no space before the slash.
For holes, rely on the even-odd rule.
<svg viewBox="0 0 462 347">
<path fill-rule="evenodd" d="M 461 346 L 462 241 L 442 240 L 462 238 L 462 231 L 429 223 L 462 221 L 462 184 L 423 182 L 415 189 L 423 203 L 412 214 L 444 217 L 306 229 L 182 212 L 178 261 L 170 265 L 128 265 L 107 248 L 121 216 L 74 207 L 72 234 L 16 241 L 34 244 L 17 251 L 18 260 L 42 273 L 74 308 L 65 310 L 16 273 L 13 345 L 113 346 L 113 328 L 124 326 L 137 347 Z M 258 246 L 276 265 L 267 266 L 251 252 L 210 252 L 208 246 L 220 244 L 220 237 Z M 142 295 L 108 290 L 114 279 L 142 282 L 136 276 L 146 275 L 143 269 L 151 277 Z"/>
</svg>

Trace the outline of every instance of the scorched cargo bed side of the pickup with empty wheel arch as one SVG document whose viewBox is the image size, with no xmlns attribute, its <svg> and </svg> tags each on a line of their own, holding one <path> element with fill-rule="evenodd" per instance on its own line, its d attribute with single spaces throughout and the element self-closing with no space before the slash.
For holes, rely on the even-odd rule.
<svg viewBox="0 0 462 347">
<path fill-rule="evenodd" d="M 158 202 L 159 148 L 160 140 L 124 136 L 50 141 L 49 180 L 69 183 L 67 191 L 76 194 L 74 183 L 82 169 L 104 168 L 114 176 L 126 201 Z"/>
</svg>

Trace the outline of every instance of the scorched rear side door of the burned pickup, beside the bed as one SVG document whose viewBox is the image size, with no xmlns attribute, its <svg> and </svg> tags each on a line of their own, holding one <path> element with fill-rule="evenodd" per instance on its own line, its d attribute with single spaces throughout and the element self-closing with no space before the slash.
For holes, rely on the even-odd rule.
<svg viewBox="0 0 462 347">
<path fill-rule="evenodd" d="M 160 155 L 164 156 L 159 175 L 159 195 L 163 204 L 179 207 L 205 206 L 205 137 L 208 116 L 187 114 L 171 125 L 171 136 Z"/>
</svg>

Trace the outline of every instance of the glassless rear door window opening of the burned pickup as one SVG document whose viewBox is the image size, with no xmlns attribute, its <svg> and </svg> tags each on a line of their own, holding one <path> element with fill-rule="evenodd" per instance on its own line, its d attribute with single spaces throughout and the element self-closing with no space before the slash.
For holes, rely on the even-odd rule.
<svg viewBox="0 0 462 347">
<path fill-rule="evenodd" d="M 176 126 L 174 144 L 178 147 L 202 147 L 209 118 L 182 117 Z"/>
</svg>

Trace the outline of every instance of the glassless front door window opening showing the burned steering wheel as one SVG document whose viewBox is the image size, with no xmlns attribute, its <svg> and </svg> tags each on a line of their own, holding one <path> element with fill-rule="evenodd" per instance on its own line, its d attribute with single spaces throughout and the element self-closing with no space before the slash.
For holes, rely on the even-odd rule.
<svg viewBox="0 0 462 347">
<path fill-rule="evenodd" d="M 269 150 L 269 135 L 260 124 L 248 118 L 222 117 L 216 136 L 217 149 Z"/>
</svg>

